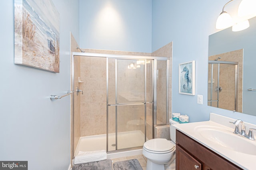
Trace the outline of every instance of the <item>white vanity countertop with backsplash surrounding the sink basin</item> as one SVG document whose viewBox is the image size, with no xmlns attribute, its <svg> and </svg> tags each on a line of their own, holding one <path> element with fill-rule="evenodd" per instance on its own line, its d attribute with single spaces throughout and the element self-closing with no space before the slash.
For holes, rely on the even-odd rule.
<svg viewBox="0 0 256 170">
<path fill-rule="evenodd" d="M 211 149 L 212 151 L 216 152 L 220 156 L 226 158 L 230 162 L 236 164 L 240 168 L 246 169 L 246 170 L 256 170 L 256 162 L 255 162 L 256 161 L 256 152 L 255 152 L 255 154 L 245 154 L 242 152 L 237 152 L 236 150 L 222 147 L 221 145 L 218 145 L 218 144 L 210 141 L 209 139 L 202 137 L 202 135 L 200 135 L 200 133 L 195 131 L 196 127 L 215 126 L 215 127 L 224 128 L 226 133 L 236 135 L 236 134 L 233 134 L 235 125 L 229 123 L 229 121 L 234 122 L 235 119 L 232 119 L 229 117 L 224 117 L 222 115 L 217 115 L 214 113 L 210 113 L 209 121 L 183 123 L 183 124 L 176 124 L 173 126 L 176 127 L 176 129 L 178 129 L 182 133 L 186 134 L 187 136 L 189 136 L 192 139 L 194 139 L 195 141 L 197 141 L 198 143 L 204 145 L 205 147 Z M 246 122 L 244 122 L 244 124 L 247 127 L 246 129 L 256 128 L 256 125 L 246 123 Z M 247 130 L 247 132 L 248 132 L 248 130 Z M 256 135 L 254 135 L 254 136 L 256 137 Z M 241 138 L 246 140 L 246 142 L 256 145 L 256 141 L 252 141 L 252 140 L 246 139 L 244 137 L 241 137 Z M 239 147 L 239 146 L 237 146 L 237 147 Z"/>
</svg>

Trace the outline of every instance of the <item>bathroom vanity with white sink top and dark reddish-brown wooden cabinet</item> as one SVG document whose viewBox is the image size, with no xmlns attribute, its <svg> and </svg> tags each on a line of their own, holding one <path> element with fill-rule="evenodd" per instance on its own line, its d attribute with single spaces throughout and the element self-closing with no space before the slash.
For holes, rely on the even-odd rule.
<svg viewBox="0 0 256 170">
<path fill-rule="evenodd" d="M 230 121 L 236 120 L 210 113 L 209 121 L 174 125 L 176 170 L 255 170 L 256 141 L 234 134 Z"/>
</svg>

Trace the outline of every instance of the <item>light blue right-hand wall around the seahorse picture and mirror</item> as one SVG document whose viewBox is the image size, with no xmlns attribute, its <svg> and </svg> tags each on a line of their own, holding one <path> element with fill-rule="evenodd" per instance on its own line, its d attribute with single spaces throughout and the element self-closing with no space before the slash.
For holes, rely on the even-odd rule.
<svg viewBox="0 0 256 170">
<path fill-rule="evenodd" d="M 226 2 L 190 0 L 152 0 L 152 51 L 173 41 L 172 111 L 205 121 L 210 112 L 255 123 L 256 117 L 207 106 L 208 36 Z M 196 95 L 178 93 L 178 64 L 196 61 Z M 203 95 L 203 105 L 197 104 Z"/>
</svg>

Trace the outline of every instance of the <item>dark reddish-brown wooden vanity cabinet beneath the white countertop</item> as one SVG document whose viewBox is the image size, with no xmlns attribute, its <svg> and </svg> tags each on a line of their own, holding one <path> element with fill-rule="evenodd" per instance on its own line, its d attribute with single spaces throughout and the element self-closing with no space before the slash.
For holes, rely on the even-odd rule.
<svg viewBox="0 0 256 170">
<path fill-rule="evenodd" d="M 242 170 L 176 130 L 176 170 Z"/>
</svg>

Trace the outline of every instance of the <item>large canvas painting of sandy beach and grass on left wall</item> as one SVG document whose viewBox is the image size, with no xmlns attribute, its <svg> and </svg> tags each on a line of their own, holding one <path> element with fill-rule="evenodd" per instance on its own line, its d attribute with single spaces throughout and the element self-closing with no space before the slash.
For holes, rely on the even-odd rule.
<svg viewBox="0 0 256 170">
<path fill-rule="evenodd" d="M 60 72 L 59 25 L 52 0 L 14 0 L 14 63 Z"/>
</svg>

